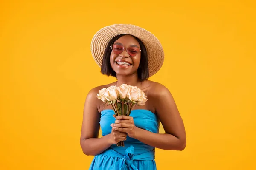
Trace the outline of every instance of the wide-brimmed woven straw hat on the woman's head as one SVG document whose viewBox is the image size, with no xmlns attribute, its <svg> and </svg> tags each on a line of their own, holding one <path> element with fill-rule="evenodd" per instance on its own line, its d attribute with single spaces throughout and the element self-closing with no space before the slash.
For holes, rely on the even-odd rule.
<svg viewBox="0 0 256 170">
<path fill-rule="evenodd" d="M 163 65 L 164 53 L 160 41 L 149 31 L 131 24 L 114 24 L 100 29 L 91 42 L 93 59 L 101 67 L 102 59 L 108 42 L 119 34 L 130 34 L 139 38 L 146 47 L 148 54 L 149 76 L 154 75 Z"/>
</svg>

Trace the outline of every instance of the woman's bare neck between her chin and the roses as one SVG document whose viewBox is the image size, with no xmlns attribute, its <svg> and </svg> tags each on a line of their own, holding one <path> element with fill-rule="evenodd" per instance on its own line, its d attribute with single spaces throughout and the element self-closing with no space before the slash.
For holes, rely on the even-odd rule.
<svg viewBox="0 0 256 170">
<path fill-rule="evenodd" d="M 132 85 L 137 87 L 141 86 L 141 82 L 137 74 L 133 74 L 129 76 L 116 75 L 116 78 L 117 78 L 116 86 L 120 86 L 122 84 L 127 84 L 127 85 Z"/>
</svg>

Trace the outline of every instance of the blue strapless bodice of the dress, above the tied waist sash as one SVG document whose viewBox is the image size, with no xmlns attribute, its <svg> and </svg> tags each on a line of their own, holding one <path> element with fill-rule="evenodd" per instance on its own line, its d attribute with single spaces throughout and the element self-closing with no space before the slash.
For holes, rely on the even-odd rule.
<svg viewBox="0 0 256 170">
<path fill-rule="evenodd" d="M 102 129 L 102 136 L 111 133 L 112 127 L 110 126 L 111 123 L 115 122 L 115 118 L 113 117 L 114 111 L 111 109 L 106 109 L 101 112 L 100 118 L 100 126 Z M 134 125 L 141 129 L 145 129 L 151 131 L 153 133 L 159 133 L 159 123 L 157 122 L 156 114 L 152 113 L 149 110 L 145 109 L 136 109 L 132 110 L 130 116 L 134 118 Z M 125 154 L 125 150 L 133 145 L 134 147 L 134 154 L 142 154 L 153 150 L 154 147 L 151 147 L 143 142 L 140 142 L 137 139 L 131 138 L 127 136 L 127 140 L 124 141 L 125 147 L 117 147 L 116 144 L 111 145 L 111 148 L 115 150 L 117 153 Z"/>
</svg>

